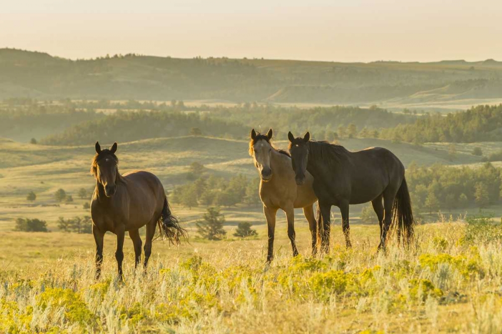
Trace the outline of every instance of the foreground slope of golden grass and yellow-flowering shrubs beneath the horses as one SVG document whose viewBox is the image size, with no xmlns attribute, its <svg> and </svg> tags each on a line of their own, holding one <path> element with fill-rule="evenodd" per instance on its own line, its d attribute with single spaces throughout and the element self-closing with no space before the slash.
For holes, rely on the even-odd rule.
<svg viewBox="0 0 502 334">
<path fill-rule="evenodd" d="M 281 226 L 280 228 L 283 228 Z M 105 238 L 103 277 L 94 281 L 92 242 L 65 234 L 2 232 L 3 332 L 500 332 L 502 246 L 471 242 L 460 222 L 417 228 L 411 249 L 376 252 L 378 227 L 353 225 L 353 248 L 334 228 L 328 256 L 309 257 L 298 229 L 292 258 L 285 233 L 265 264 L 264 231 L 255 240 L 169 248 L 154 242 L 146 274 L 115 280 Z M 7 242 L 6 242 L 7 241 Z M 19 249 L 19 251 L 13 251 Z M 11 253 L 11 256 L 6 254 Z M 5 258 L 7 257 L 7 258 Z M 28 257 L 29 260 L 24 259 Z"/>
</svg>

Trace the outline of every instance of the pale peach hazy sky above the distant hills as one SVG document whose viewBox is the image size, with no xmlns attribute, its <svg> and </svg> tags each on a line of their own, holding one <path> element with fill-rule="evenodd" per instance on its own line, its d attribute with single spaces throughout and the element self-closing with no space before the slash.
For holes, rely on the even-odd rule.
<svg viewBox="0 0 502 334">
<path fill-rule="evenodd" d="M 343 62 L 502 60 L 502 0 L 2 0 L 0 48 Z"/>
</svg>

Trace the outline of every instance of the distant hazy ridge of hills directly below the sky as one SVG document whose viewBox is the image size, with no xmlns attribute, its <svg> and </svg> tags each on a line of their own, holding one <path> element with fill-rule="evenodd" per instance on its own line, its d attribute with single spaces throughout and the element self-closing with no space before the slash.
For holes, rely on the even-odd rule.
<svg viewBox="0 0 502 334">
<path fill-rule="evenodd" d="M 423 103 L 500 98 L 502 64 L 363 64 L 137 55 L 71 61 L 2 49 L 0 73 L 0 98 Z"/>
</svg>

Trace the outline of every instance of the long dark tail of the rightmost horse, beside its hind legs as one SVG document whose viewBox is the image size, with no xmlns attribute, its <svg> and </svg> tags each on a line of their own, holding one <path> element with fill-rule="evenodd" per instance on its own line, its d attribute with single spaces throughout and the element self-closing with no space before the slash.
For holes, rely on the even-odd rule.
<svg viewBox="0 0 502 334">
<path fill-rule="evenodd" d="M 399 187 L 394 205 L 392 207 L 392 228 L 397 228 L 398 240 L 401 236 L 405 236 L 403 242 L 409 243 L 414 236 L 415 219 L 413 219 L 413 212 L 411 209 L 410 192 L 406 179 L 403 178 L 401 187 Z"/>
</svg>

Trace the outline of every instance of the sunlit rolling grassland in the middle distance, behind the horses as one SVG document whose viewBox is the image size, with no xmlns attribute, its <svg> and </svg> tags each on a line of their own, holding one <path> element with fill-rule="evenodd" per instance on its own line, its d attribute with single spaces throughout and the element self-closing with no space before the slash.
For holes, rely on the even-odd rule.
<svg viewBox="0 0 502 334">
<path fill-rule="evenodd" d="M 111 143 L 101 142 L 102 146 Z M 287 147 L 287 141 L 277 141 L 280 148 Z M 411 144 L 395 144 L 372 139 L 347 139 L 342 142 L 348 149 L 358 150 L 368 146 L 387 147 L 409 165 L 470 164 L 480 157 L 468 152 L 458 153 L 449 160 L 447 151 L 436 147 L 419 147 Z M 166 189 L 184 184 L 189 166 L 199 162 L 209 174 L 229 178 L 237 174 L 256 177 L 257 171 L 252 158 L 247 154 L 247 142 L 210 137 L 159 138 L 118 143 L 120 171 L 135 169 L 149 170 L 159 176 Z M 0 140 L 0 230 L 12 230 L 18 217 L 45 219 L 52 227 L 60 216 L 71 218 L 88 214 L 82 204 L 89 199 L 79 199 L 77 192 L 85 188 L 90 193 L 94 179 L 89 174 L 90 160 L 94 147 L 88 146 L 45 146 L 21 144 L 12 140 Z M 73 196 L 72 203 L 58 203 L 54 193 L 62 188 Z M 258 190 L 258 189 L 257 189 Z M 37 194 L 37 200 L 30 202 L 26 196 L 30 191 Z M 257 194 L 258 196 L 258 194 Z M 199 219 L 203 208 L 185 210 L 174 208 L 187 222 Z M 244 210 L 244 211 L 242 211 Z M 355 212 L 359 208 L 354 208 Z M 336 210 L 335 210 L 336 211 Z M 354 211 L 353 211 L 354 212 Z M 253 216 L 254 222 L 263 224 L 261 210 L 255 208 L 230 208 L 225 210 L 228 221 L 238 221 Z M 301 212 L 298 212 L 300 219 Z M 338 214 L 338 213 L 337 213 Z M 357 214 L 354 214 L 357 217 Z M 244 218 L 245 219 L 245 218 Z"/>
</svg>

